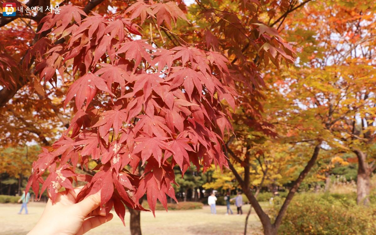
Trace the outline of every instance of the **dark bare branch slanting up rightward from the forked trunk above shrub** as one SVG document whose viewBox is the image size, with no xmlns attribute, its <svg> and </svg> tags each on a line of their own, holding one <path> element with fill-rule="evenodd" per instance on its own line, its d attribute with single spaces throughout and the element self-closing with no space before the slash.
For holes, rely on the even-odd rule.
<svg viewBox="0 0 376 235">
<path fill-rule="evenodd" d="M 320 152 L 320 146 L 321 146 L 321 141 L 315 146 L 315 149 L 313 151 L 311 159 L 309 159 L 307 165 L 305 166 L 304 170 L 300 172 L 299 177 L 294 181 L 293 186 L 291 187 L 290 191 L 287 194 L 287 197 L 280 208 L 278 215 L 276 217 L 276 220 L 274 221 L 274 226 L 278 227 L 280 223 L 282 222 L 282 218 L 284 217 L 287 207 L 290 204 L 291 200 L 294 197 L 294 194 L 298 190 L 300 184 L 303 182 L 304 178 L 307 176 L 308 172 L 311 170 L 313 165 L 315 164 L 318 153 Z"/>
</svg>

